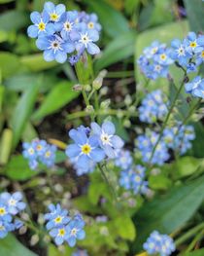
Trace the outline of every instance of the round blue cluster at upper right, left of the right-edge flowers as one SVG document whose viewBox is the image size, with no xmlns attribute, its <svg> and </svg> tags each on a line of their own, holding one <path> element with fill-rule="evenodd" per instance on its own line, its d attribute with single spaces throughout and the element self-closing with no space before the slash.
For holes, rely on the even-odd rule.
<svg viewBox="0 0 204 256">
<path fill-rule="evenodd" d="M 150 79 L 167 77 L 169 65 L 174 62 L 170 54 L 171 50 L 165 44 L 154 41 L 143 51 L 143 55 L 140 55 L 137 63 L 141 72 Z"/>
</svg>

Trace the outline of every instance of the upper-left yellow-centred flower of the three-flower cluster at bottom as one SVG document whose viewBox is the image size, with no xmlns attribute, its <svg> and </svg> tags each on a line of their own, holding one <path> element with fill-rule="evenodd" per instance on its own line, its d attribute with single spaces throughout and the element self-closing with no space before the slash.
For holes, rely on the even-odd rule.
<svg viewBox="0 0 204 256">
<path fill-rule="evenodd" d="M 62 209 L 60 204 L 50 204 L 49 209 L 50 213 L 45 214 L 45 219 L 49 220 L 46 225 L 48 230 L 53 228 L 60 228 L 63 225 L 66 225 L 71 219 L 68 217 L 68 211 L 66 209 Z"/>
</svg>

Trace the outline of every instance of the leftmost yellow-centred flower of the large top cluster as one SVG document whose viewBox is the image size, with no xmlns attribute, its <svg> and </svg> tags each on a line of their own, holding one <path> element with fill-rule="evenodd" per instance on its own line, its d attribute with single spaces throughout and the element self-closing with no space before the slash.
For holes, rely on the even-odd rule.
<svg viewBox="0 0 204 256">
<path fill-rule="evenodd" d="M 30 15 L 33 25 L 30 25 L 27 29 L 28 36 L 36 38 L 38 36 L 52 35 L 54 31 L 53 24 L 49 23 L 49 14 L 43 12 L 42 15 L 38 12 L 33 12 Z"/>
</svg>

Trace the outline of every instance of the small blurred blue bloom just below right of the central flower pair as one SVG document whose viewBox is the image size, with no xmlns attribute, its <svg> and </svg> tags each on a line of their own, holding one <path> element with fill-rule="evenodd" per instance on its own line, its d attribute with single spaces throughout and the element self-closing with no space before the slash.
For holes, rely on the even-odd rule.
<svg viewBox="0 0 204 256">
<path fill-rule="evenodd" d="M 128 150 L 120 149 L 117 151 L 117 157 L 115 159 L 115 165 L 121 169 L 127 169 L 132 164 L 132 156 Z"/>
</svg>

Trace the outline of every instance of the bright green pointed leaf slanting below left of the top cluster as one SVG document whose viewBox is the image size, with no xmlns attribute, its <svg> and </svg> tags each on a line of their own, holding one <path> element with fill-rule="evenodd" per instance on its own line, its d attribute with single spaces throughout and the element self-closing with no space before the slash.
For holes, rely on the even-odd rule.
<svg viewBox="0 0 204 256">
<path fill-rule="evenodd" d="M 70 82 L 57 84 L 45 98 L 39 109 L 34 113 L 32 120 L 39 121 L 76 98 L 79 92 L 72 91 L 72 86 L 73 84 Z"/>
</svg>

